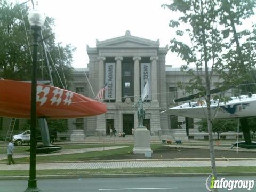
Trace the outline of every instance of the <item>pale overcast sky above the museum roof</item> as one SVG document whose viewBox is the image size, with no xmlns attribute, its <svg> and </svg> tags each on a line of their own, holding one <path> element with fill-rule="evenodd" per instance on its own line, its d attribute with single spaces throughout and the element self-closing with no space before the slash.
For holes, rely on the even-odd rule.
<svg viewBox="0 0 256 192">
<path fill-rule="evenodd" d="M 170 45 L 174 30 L 169 27 L 169 20 L 175 15 L 161 7 L 166 3 L 170 4 L 170 1 L 38 0 L 42 11 L 55 18 L 57 41 L 77 48 L 73 55 L 75 68 L 87 67 L 89 63 L 86 45 L 95 47 L 96 39 L 102 41 L 123 36 L 126 30 L 133 36 L 153 41 L 159 38 L 161 47 Z M 166 65 L 179 67 L 181 62 L 175 54 L 167 54 Z"/>
</svg>

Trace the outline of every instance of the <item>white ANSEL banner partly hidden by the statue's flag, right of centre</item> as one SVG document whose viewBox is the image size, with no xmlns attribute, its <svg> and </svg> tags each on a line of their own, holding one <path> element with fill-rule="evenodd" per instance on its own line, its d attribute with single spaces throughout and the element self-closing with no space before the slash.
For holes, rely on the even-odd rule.
<svg viewBox="0 0 256 192">
<path fill-rule="evenodd" d="M 151 63 L 141 63 L 140 64 L 140 90 L 141 94 L 148 81 L 149 95 L 146 100 L 151 100 Z"/>
</svg>

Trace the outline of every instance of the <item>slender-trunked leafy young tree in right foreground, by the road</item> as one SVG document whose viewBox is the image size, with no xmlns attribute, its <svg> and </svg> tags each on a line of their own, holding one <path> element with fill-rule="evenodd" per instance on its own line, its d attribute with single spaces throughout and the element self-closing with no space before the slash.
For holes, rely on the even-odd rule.
<svg viewBox="0 0 256 192">
<path fill-rule="evenodd" d="M 230 0 L 233 2 L 233 0 Z M 238 1 L 238 0 L 237 0 Z M 245 8 L 246 3 L 232 3 L 233 6 L 230 10 L 239 11 L 240 19 L 246 19 L 251 14 L 247 14 Z M 240 46 L 236 49 L 230 47 L 230 39 L 237 43 L 237 38 L 234 33 L 234 26 L 232 27 L 233 36 L 229 36 L 227 30 L 227 19 L 223 17 L 226 15 L 226 7 L 223 6 L 221 0 L 174 0 L 170 5 L 163 5 L 168 7 L 171 11 L 179 12 L 181 17 L 178 21 L 171 20 L 170 27 L 180 27 L 176 34 L 184 38 L 184 34 L 188 34 L 190 43 L 184 43 L 182 39 L 173 38 L 171 40 L 170 49 L 175 52 L 186 61 L 187 65 L 182 69 L 187 69 L 188 66 L 194 65 L 196 70 L 188 70 L 189 75 L 193 76 L 189 84 L 180 84 L 182 88 L 188 93 L 197 91 L 199 95 L 204 97 L 206 101 L 207 111 L 205 111 L 205 118 L 207 121 L 207 130 L 209 133 L 209 148 L 211 156 L 212 174 L 217 178 L 217 171 L 215 168 L 215 155 L 213 148 L 212 137 L 212 123 L 214 114 L 211 114 L 211 93 L 212 86 L 219 89 L 226 89 L 230 87 L 234 82 L 242 82 L 245 78 L 245 71 L 252 68 L 252 63 L 249 62 L 252 57 L 252 52 L 243 50 L 245 46 Z M 247 1 L 241 1 L 247 2 Z M 231 6 L 228 4 L 228 6 Z M 236 6 L 236 7 L 234 7 Z M 253 3 L 253 6 L 255 4 Z M 236 17 L 239 21 L 239 18 Z M 182 30 L 180 23 L 186 25 L 186 29 Z M 236 22 L 238 24 L 239 22 Z M 231 25 L 231 24 L 230 24 Z M 230 26 L 229 25 L 229 26 Z M 247 33 L 239 34 L 239 37 L 243 37 Z M 229 37 L 229 38 L 228 38 Z M 229 41 L 228 41 L 229 39 Z M 246 59 L 242 59 L 247 57 Z M 242 62 L 243 61 L 243 62 Z M 220 82 L 212 82 L 213 73 L 220 76 Z M 238 75 L 236 75 L 238 74 Z M 206 92 L 206 95 L 205 95 Z M 222 96 L 222 94 L 220 94 Z M 221 100 L 219 100 L 221 101 Z"/>
</svg>

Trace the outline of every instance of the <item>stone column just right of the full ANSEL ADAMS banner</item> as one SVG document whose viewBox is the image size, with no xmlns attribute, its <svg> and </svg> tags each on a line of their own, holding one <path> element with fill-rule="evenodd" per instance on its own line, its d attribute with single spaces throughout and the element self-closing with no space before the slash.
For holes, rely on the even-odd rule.
<svg viewBox="0 0 256 192">
<path fill-rule="evenodd" d="M 122 66 L 123 57 L 115 57 L 116 60 L 116 102 L 122 102 Z"/>
</svg>

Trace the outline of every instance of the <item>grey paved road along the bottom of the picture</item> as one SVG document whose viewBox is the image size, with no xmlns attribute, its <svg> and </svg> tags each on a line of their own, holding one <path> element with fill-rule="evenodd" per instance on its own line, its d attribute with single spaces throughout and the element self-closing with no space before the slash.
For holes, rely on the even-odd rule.
<svg viewBox="0 0 256 192">
<path fill-rule="evenodd" d="M 233 180 L 252 180 L 252 177 L 226 177 Z M 37 186 L 44 192 L 113 192 L 113 191 L 140 191 L 140 192 L 205 192 L 206 177 L 139 177 L 139 178 L 93 178 L 93 179 L 41 179 Z M 15 183 L 15 185 L 13 185 Z M 27 188 L 26 180 L 0 181 L 1 192 L 24 191 Z M 255 191 L 255 187 L 251 191 Z M 221 189 L 219 191 L 228 191 Z M 247 191 L 237 189 L 232 191 Z"/>
</svg>

